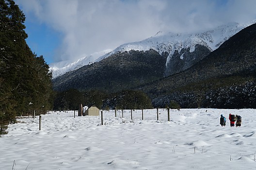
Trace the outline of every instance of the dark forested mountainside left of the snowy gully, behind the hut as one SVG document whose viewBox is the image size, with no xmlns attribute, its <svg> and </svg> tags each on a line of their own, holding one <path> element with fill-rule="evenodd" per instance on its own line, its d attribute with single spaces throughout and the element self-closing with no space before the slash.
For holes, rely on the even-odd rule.
<svg viewBox="0 0 256 170">
<path fill-rule="evenodd" d="M 99 62 L 53 79 L 54 90 L 104 90 L 114 93 L 158 80 L 165 71 L 166 56 L 155 50 L 116 53 Z"/>
</svg>

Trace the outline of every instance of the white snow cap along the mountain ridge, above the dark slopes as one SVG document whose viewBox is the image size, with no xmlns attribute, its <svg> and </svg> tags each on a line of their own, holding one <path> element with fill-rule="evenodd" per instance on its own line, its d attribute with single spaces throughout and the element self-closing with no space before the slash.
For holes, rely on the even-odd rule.
<svg viewBox="0 0 256 170">
<path fill-rule="evenodd" d="M 53 71 L 53 78 L 64 74 L 67 71 L 78 69 L 84 65 L 98 62 L 106 57 L 109 57 L 117 52 L 124 52 L 130 50 L 147 51 L 149 49 L 156 50 L 160 55 L 162 52 L 168 52 L 166 64 L 177 50 L 181 51 L 182 48 L 190 48 L 190 52 L 193 52 L 196 44 L 206 46 L 210 51 L 217 49 L 223 42 L 230 37 L 238 33 L 241 29 L 246 28 L 254 24 L 256 20 L 247 23 L 228 23 L 220 27 L 199 33 L 172 33 L 172 32 L 158 32 L 155 36 L 147 38 L 140 42 L 129 42 L 120 45 L 113 51 L 104 51 L 103 55 L 92 55 L 84 57 L 77 62 L 65 65 L 64 67 L 58 66 L 58 63 L 50 65 L 50 71 Z M 99 53 L 102 54 L 102 53 Z"/>
</svg>

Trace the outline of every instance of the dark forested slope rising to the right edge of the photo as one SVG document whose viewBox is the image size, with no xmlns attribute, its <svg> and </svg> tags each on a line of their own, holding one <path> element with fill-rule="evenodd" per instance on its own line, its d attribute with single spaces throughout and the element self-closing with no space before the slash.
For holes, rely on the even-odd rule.
<svg viewBox="0 0 256 170">
<path fill-rule="evenodd" d="M 256 108 L 256 24 L 186 71 L 139 87 L 155 106 Z"/>
</svg>

